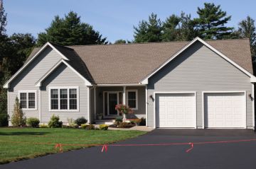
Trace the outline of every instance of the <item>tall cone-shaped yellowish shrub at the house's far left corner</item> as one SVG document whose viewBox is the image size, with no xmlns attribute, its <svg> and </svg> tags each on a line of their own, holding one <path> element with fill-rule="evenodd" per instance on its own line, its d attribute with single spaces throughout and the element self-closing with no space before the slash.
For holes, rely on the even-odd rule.
<svg viewBox="0 0 256 169">
<path fill-rule="evenodd" d="M 11 116 L 11 124 L 15 127 L 17 126 L 25 126 L 26 125 L 26 117 L 23 114 L 20 103 L 18 102 L 18 98 L 16 97 L 14 103 L 14 111 Z"/>
</svg>

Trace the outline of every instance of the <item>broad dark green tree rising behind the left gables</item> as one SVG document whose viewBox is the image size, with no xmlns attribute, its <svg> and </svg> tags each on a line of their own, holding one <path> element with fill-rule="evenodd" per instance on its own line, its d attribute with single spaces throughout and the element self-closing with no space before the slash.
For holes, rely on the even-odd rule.
<svg viewBox="0 0 256 169">
<path fill-rule="evenodd" d="M 92 25 L 82 23 L 77 13 L 70 11 L 65 18 L 55 16 L 46 33 L 38 34 L 38 46 L 46 42 L 59 45 L 95 45 L 106 44 L 107 38 L 93 30 Z"/>
</svg>

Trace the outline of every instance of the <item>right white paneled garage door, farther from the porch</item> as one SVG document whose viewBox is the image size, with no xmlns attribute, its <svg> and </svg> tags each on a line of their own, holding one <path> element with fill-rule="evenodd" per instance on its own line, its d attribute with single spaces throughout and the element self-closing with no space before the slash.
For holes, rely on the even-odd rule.
<svg viewBox="0 0 256 169">
<path fill-rule="evenodd" d="M 245 93 L 204 93 L 205 127 L 245 127 Z"/>
</svg>

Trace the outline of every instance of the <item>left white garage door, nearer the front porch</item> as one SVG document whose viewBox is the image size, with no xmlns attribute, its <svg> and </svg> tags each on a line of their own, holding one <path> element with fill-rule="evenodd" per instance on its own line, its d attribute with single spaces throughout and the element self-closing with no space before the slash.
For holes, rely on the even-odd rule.
<svg viewBox="0 0 256 169">
<path fill-rule="evenodd" d="M 196 127 L 195 94 L 156 94 L 156 127 Z"/>
</svg>

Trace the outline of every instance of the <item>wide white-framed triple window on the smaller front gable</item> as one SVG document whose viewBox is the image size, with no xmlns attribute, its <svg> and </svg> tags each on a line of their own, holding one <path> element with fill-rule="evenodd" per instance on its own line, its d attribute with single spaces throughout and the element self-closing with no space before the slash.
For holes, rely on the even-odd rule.
<svg viewBox="0 0 256 169">
<path fill-rule="evenodd" d="M 78 88 L 50 88 L 50 110 L 78 110 Z"/>
</svg>

